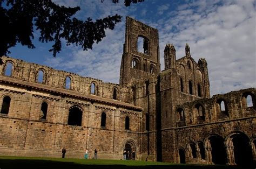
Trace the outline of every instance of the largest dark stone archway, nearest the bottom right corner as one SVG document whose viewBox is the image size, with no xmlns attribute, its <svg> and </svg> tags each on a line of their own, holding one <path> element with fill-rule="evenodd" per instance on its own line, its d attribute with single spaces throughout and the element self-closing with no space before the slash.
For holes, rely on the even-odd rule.
<svg viewBox="0 0 256 169">
<path fill-rule="evenodd" d="M 226 147 L 230 164 L 251 166 L 253 164 L 250 139 L 242 132 L 234 132 L 226 137 Z"/>
</svg>

